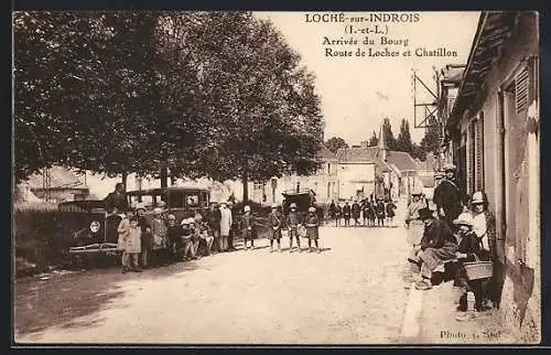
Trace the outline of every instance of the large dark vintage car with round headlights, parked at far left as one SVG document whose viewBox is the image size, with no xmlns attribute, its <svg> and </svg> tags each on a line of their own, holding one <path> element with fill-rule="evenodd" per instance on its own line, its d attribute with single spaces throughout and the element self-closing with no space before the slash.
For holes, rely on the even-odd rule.
<svg viewBox="0 0 551 355">
<path fill-rule="evenodd" d="M 145 217 L 152 209 L 165 203 L 165 213 L 177 220 L 202 213 L 209 202 L 209 191 L 203 187 L 171 186 L 164 189 L 137 190 L 127 193 L 130 206 L 143 202 L 148 206 Z M 119 256 L 117 249 L 119 226 L 122 217 L 110 214 L 104 200 L 71 201 L 58 204 L 60 235 L 66 254 L 72 259 L 90 259 Z"/>
</svg>

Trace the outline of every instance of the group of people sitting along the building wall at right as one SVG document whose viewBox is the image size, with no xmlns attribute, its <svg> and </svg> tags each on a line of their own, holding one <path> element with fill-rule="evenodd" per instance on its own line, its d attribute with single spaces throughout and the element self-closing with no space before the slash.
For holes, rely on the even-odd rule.
<svg viewBox="0 0 551 355">
<path fill-rule="evenodd" d="M 493 261 L 496 259 L 495 218 L 487 209 L 484 192 L 475 192 L 471 209 L 465 208 L 450 226 L 436 219 L 428 202 L 420 193 L 413 194 L 406 214 L 409 228 L 408 241 L 412 245 L 408 261 L 414 267 L 415 288 L 429 290 L 443 281 L 454 281 L 462 288 L 457 320 L 473 316 L 468 306 L 468 293 L 474 298 L 474 310 L 482 312 L 499 308 L 500 287 L 495 273 L 469 276 L 466 262 Z M 409 287 L 409 286 L 408 286 Z"/>
</svg>

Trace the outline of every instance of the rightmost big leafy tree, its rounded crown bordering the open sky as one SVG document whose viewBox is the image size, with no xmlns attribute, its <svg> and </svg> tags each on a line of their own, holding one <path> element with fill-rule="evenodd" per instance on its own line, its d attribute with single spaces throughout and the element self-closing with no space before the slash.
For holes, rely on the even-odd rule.
<svg viewBox="0 0 551 355">
<path fill-rule="evenodd" d="M 204 85 L 219 98 L 210 108 L 218 131 L 202 165 L 216 180 L 240 179 L 246 202 L 250 180 L 309 174 L 320 166 L 320 99 L 314 77 L 271 22 L 250 13 L 210 17 L 205 31 L 219 43 L 210 47 Z"/>
</svg>

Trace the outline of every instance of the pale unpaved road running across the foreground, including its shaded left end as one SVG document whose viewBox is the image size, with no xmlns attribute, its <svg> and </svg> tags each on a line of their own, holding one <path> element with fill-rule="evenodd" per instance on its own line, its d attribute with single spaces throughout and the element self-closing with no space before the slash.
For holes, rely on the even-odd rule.
<svg viewBox="0 0 551 355">
<path fill-rule="evenodd" d="M 290 254 L 287 238 L 283 252 L 270 254 L 260 239 L 256 250 L 141 275 L 108 269 L 19 281 L 17 341 L 397 342 L 408 300 L 404 230 L 326 226 L 321 240 L 321 254 Z M 39 324 L 41 316 L 50 323 Z"/>
</svg>

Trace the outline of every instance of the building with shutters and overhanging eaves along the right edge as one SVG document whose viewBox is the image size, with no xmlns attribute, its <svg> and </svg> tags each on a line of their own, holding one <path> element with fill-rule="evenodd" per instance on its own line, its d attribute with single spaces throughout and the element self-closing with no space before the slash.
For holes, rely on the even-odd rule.
<svg viewBox="0 0 551 355">
<path fill-rule="evenodd" d="M 500 314 L 541 336 L 537 12 L 483 12 L 446 129 L 464 189 L 496 215 Z"/>
</svg>

